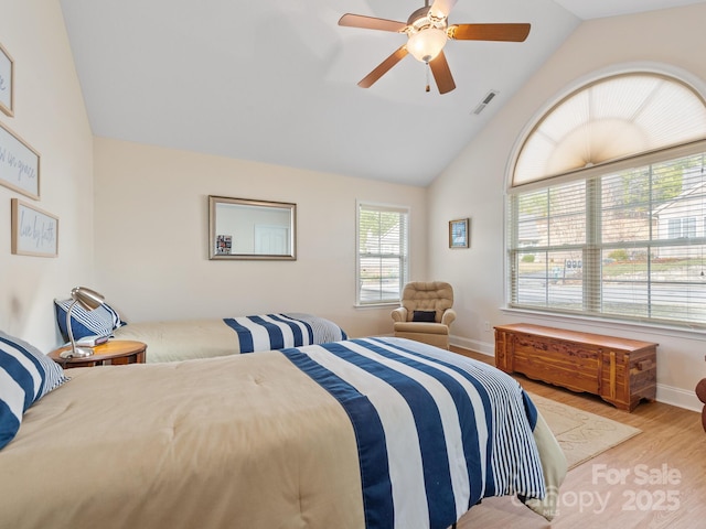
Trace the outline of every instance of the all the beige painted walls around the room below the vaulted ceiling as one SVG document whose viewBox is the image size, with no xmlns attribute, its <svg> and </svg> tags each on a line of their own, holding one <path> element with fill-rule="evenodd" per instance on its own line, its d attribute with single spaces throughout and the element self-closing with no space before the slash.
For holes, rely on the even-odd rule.
<svg viewBox="0 0 706 529">
<path fill-rule="evenodd" d="M 309 311 L 352 336 L 389 333 L 387 309 L 353 306 L 361 198 L 413 206 L 413 279 L 454 284 L 456 343 L 492 353 L 485 322 L 516 321 L 653 339 L 660 399 L 696 406 L 693 388 L 706 375 L 703 335 L 503 311 L 502 226 L 507 160 L 526 125 L 567 86 L 635 63 L 706 79 L 703 4 L 584 23 L 428 193 L 105 139 L 94 147 L 58 2 L 0 0 L 0 42 L 15 61 L 15 116 L 0 120 L 41 153 L 36 205 L 60 217 L 57 258 L 11 255 L 10 199 L 21 196 L 0 186 L 3 331 L 49 350 L 58 343 L 52 299 L 86 284 L 133 321 Z M 208 261 L 208 194 L 296 202 L 299 259 Z M 464 216 L 472 217 L 471 248 L 450 250 L 448 220 Z"/>
</svg>

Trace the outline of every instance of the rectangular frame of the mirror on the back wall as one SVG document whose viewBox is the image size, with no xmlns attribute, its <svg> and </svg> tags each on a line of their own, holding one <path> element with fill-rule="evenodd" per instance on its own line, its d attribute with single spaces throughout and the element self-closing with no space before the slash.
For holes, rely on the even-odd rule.
<svg viewBox="0 0 706 529">
<path fill-rule="evenodd" d="M 250 208 L 278 208 L 289 212 L 289 253 L 217 253 L 216 222 L 217 206 L 221 204 L 242 205 Z M 289 202 L 254 201 L 228 196 L 208 195 L 208 259 L 211 260 L 297 260 L 297 204 Z"/>
</svg>

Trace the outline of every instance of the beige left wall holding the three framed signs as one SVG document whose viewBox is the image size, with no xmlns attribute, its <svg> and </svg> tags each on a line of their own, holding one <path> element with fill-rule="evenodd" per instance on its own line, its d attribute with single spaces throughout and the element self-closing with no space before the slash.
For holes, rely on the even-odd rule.
<svg viewBox="0 0 706 529">
<path fill-rule="evenodd" d="M 93 281 L 93 137 L 58 2 L 0 0 L 0 13 L 14 58 L 14 117 L 0 121 L 41 155 L 40 201 L 0 186 L 0 328 L 49 352 L 52 300 Z M 12 198 L 58 217 L 58 257 L 11 255 Z"/>
</svg>

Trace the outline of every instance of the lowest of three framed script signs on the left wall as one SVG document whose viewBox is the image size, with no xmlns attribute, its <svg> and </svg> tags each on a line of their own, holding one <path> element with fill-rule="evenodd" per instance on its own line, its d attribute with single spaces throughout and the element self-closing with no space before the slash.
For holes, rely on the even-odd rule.
<svg viewBox="0 0 706 529">
<path fill-rule="evenodd" d="M 12 253 L 56 257 L 58 255 L 58 218 L 12 198 Z"/>
</svg>

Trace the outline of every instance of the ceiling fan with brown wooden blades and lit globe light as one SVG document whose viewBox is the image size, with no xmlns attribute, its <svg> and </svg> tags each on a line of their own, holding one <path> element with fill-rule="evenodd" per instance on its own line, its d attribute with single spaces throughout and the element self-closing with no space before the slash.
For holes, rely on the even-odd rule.
<svg viewBox="0 0 706 529">
<path fill-rule="evenodd" d="M 341 17 L 339 25 L 407 34 L 407 43 L 399 46 L 357 85 L 362 88 L 370 88 L 410 53 L 417 61 L 429 65 L 439 94 L 446 94 L 456 88 L 451 69 L 443 55 L 443 46 L 449 39 L 454 41 L 523 42 L 530 34 L 530 24 L 449 25 L 447 19 L 456 2 L 457 0 L 435 0 L 429 7 L 429 0 L 425 0 L 424 8 L 414 11 L 406 23 L 363 14 L 346 13 Z M 427 91 L 429 91 L 428 84 Z"/>
</svg>

